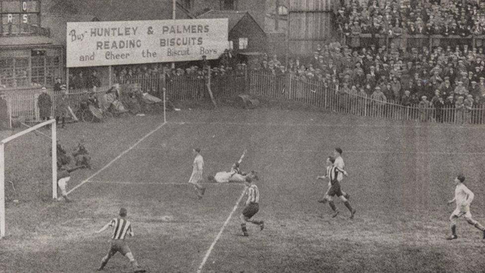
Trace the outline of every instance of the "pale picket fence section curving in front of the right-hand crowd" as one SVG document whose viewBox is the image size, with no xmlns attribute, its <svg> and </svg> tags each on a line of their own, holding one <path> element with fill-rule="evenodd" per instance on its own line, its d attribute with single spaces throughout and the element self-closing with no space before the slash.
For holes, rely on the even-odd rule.
<svg viewBox="0 0 485 273">
<path fill-rule="evenodd" d="M 249 92 L 262 97 L 300 101 L 334 112 L 374 117 L 387 120 L 414 120 L 421 122 L 485 124 L 484 105 L 465 108 L 412 104 L 404 106 L 396 101 L 382 101 L 367 95 L 338 91 L 336 86 L 325 86 L 319 81 L 301 80 L 292 75 L 273 75 L 268 72 L 249 72 Z"/>
</svg>

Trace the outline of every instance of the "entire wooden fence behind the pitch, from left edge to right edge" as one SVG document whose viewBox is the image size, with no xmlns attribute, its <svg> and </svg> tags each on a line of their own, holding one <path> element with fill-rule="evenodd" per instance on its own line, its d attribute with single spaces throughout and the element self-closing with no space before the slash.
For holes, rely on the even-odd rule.
<svg viewBox="0 0 485 273">
<path fill-rule="evenodd" d="M 136 81 L 132 80 L 131 83 L 137 86 L 142 86 L 142 83 L 145 83 L 142 91 L 157 90 L 163 86 L 163 83 L 160 82 L 161 79 L 166 81 L 164 86 L 167 89 L 167 96 L 171 100 L 205 99 L 207 98 L 207 89 L 210 88 L 216 99 L 234 97 L 248 91 L 257 96 L 300 101 L 334 112 L 379 119 L 485 124 L 484 105 L 475 105 L 471 110 L 464 107 L 436 109 L 417 104 L 404 106 L 396 101 L 382 101 L 367 95 L 342 92 L 338 90 L 337 86 L 325 86 L 322 82 L 302 80 L 289 74 L 273 75 L 268 72 L 250 71 L 247 74 L 230 74 L 211 79 L 155 75 L 140 77 Z M 101 96 L 107 89 L 107 87 L 99 88 L 95 93 Z M 75 90 L 69 93 L 69 104 L 74 112 L 79 109 L 86 92 L 90 91 L 92 90 Z M 49 93 L 53 98 L 52 116 L 55 116 L 55 107 L 59 95 L 53 95 L 51 90 Z M 7 94 L 10 116 L 21 121 L 39 121 L 38 95 L 39 93 Z"/>
</svg>

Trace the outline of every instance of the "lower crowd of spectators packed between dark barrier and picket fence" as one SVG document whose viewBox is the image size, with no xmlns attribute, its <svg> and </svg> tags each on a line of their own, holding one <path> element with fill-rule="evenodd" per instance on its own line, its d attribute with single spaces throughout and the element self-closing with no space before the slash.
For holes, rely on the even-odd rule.
<svg viewBox="0 0 485 273">
<path fill-rule="evenodd" d="M 485 52 L 467 45 L 403 52 L 394 44 L 389 49 L 374 45 L 351 49 L 337 42 L 318 45 L 313 57 L 290 58 L 287 66 L 273 56 L 269 61 L 263 57 L 250 68 L 275 75 L 290 73 L 301 81 L 335 86 L 340 92 L 404 105 L 417 104 L 424 96 L 430 103 L 439 97 L 454 103 L 460 96 L 474 103 L 485 102 Z"/>
</svg>

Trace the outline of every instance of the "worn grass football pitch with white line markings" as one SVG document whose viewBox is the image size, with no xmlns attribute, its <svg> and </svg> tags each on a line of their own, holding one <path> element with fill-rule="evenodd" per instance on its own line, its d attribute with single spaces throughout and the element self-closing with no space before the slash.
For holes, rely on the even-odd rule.
<svg viewBox="0 0 485 273">
<path fill-rule="evenodd" d="M 160 116 L 130 117 L 60 130 L 66 146 L 74 146 L 80 135 L 88 140 L 93 170 L 74 173 L 69 188 L 80 186 L 70 193 L 73 203 L 7 204 L 0 271 L 94 271 L 110 232 L 93 233 L 120 206 L 133 222 L 130 248 L 149 272 L 196 272 L 206 256 L 202 272 L 485 268 L 485 241 L 465 220 L 459 221 L 458 240 L 444 240 L 454 209 L 446 201 L 459 172 L 475 192 L 474 217 L 485 222 L 485 128 L 230 107 L 184 109 L 169 113 L 168 120 L 161 126 Z M 342 187 L 357 209 L 353 220 L 339 200 L 335 219 L 317 202 L 326 182 L 316 177 L 336 146 L 344 150 L 350 175 Z M 235 207 L 243 192 L 239 184 L 207 184 L 206 196 L 195 198 L 186 183 L 193 147 L 202 149 L 204 177 L 228 170 L 248 150 L 242 169 L 259 172 L 255 217 L 265 220 L 263 231 L 248 225 L 250 236 L 242 236 L 242 202 Z M 106 272 L 129 271 L 119 254 L 106 267 Z"/>
</svg>

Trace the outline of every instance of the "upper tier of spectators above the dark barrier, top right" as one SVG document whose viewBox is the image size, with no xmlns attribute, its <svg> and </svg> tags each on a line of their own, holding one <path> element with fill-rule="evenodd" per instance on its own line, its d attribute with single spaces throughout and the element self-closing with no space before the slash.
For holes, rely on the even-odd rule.
<svg viewBox="0 0 485 273">
<path fill-rule="evenodd" d="M 350 0 L 337 12 L 346 36 L 423 34 L 469 36 L 485 34 L 485 3 L 477 0 Z"/>
</svg>

